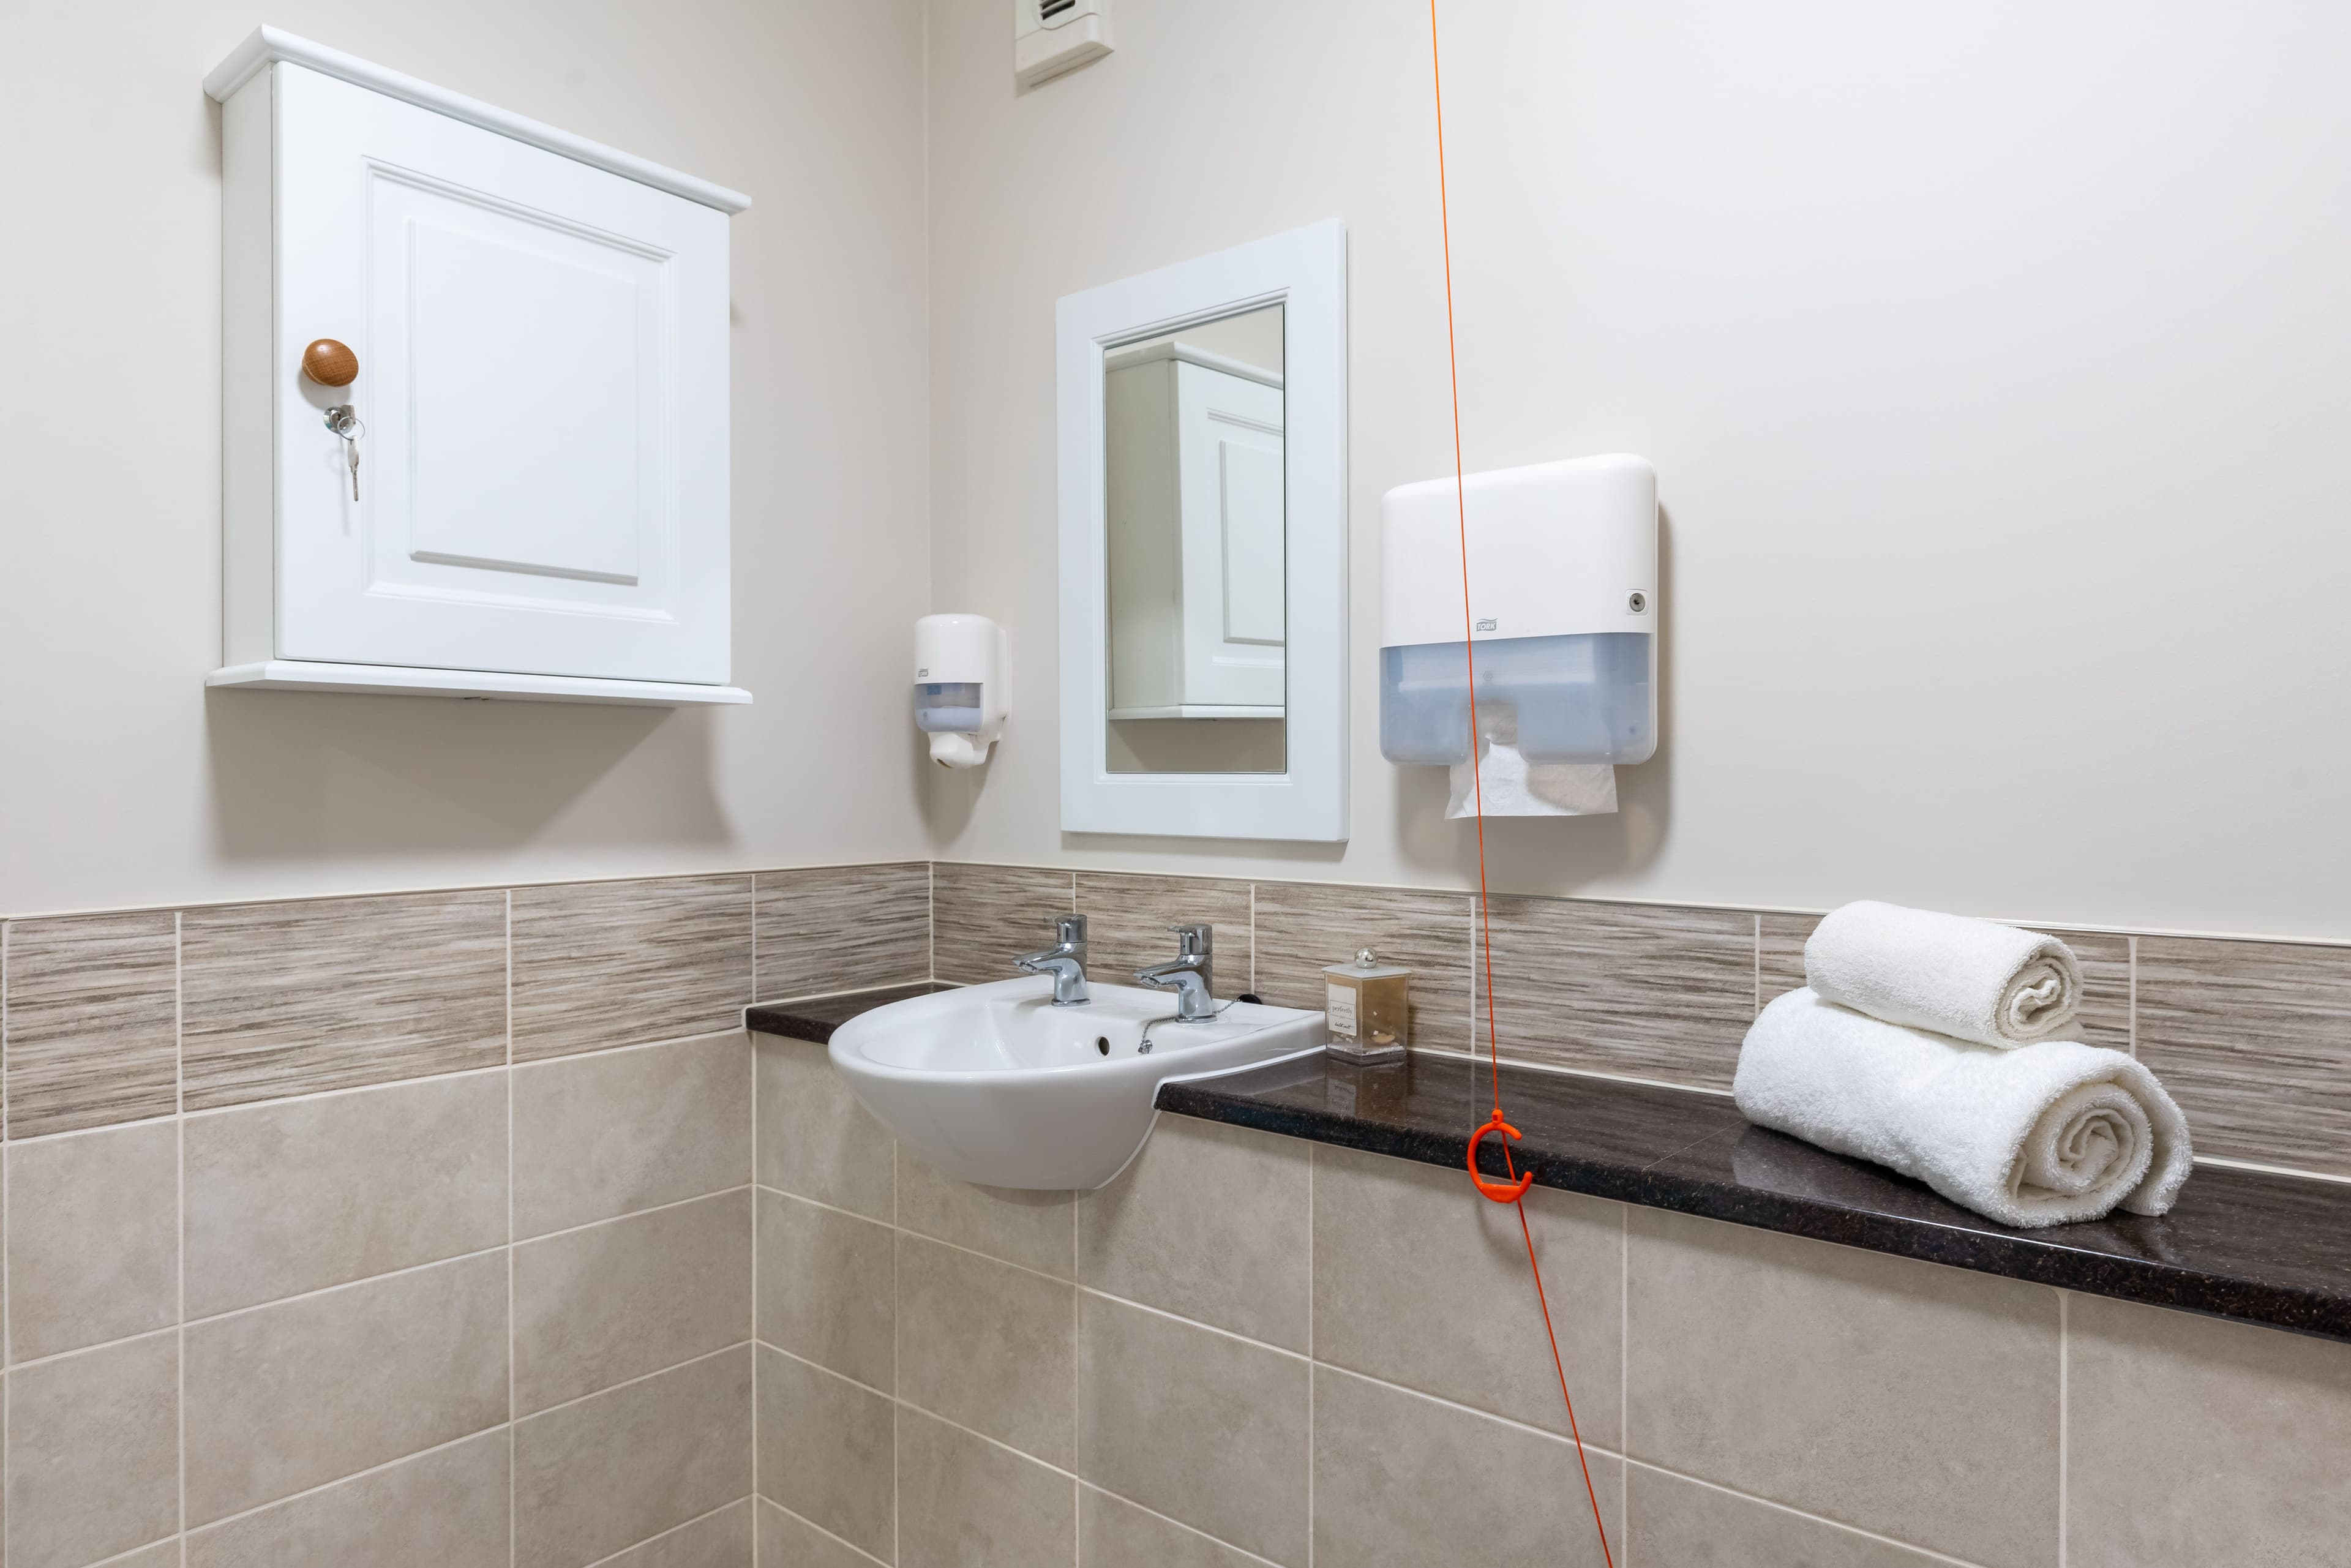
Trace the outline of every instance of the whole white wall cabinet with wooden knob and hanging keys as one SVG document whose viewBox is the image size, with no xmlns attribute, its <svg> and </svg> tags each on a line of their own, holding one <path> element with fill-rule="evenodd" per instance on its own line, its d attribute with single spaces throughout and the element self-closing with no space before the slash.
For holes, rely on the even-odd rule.
<svg viewBox="0 0 2351 1568">
<path fill-rule="evenodd" d="M 750 701 L 726 571 L 745 197 L 268 28 L 205 87 L 226 183 L 212 682 Z M 315 339 L 357 378 L 308 378 Z"/>
</svg>

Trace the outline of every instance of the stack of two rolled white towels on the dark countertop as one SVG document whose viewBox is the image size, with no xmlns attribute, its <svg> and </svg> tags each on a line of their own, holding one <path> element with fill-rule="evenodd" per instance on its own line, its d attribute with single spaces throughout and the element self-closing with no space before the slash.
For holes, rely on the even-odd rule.
<svg viewBox="0 0 2351 1568">
<path fill-rule="evenodd" d="M 1869 914 L 1841 922 L 1848 910 Z M 1806 947 L 1813 985 L 1777 997 L 1747 1032 L 1733 1095 L 1749 1121 L 1893 1166 L 2003 1225 L 2097 1220 L 2116 1206 L 2170 1211 L 2189 1178 L 2189 1128 L 2135 1058 L 2071 1039 L 1984 1044 L 1907 1023 L 1933 1011 L 1942 1025 L 1996 1034 L 1989 1025 L 2003 1018 L 2045 1023 L 2059 992 L 2071 1018 L 2081 987 L 2062 943 L 1893 905 L 1848 910 L 1824 919 Z M 1815 971 L 1834 922 L 1831 957 Z M 1951 926 L 1982 926 L 1984 936 L 1963 938 Z M 1947 969 L 1928 973 L 1937 961 L 1928 959 L 1914 978 L 1895 973 L 1921 952 L 1947 954 Z M 2022 990 L 2036 990 L 2059 973 L 2067 980 L 2048 992 L 2052 1001 L 2015 1006 L 2020 978 Z M 1838 985 L 1848 1006 L 1831 1001 L 1822 980 Z"/>
</svg>

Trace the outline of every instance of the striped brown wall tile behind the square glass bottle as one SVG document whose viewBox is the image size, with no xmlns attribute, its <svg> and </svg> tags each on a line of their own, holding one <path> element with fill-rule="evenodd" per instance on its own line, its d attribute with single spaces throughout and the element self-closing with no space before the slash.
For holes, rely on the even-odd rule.
<svg viewBox="0 0 2351 1568">
<path fill-rule="evenodd" d="M 1469 1048 L 1467 893 L 1420 893 L 1324 882 L 1258 884 L 1258 985 L 1274 1006 L 1324 1006 L 1324 964 L 1371 947 L 1413 971 L 1413 1044 Z"/>
</svg>

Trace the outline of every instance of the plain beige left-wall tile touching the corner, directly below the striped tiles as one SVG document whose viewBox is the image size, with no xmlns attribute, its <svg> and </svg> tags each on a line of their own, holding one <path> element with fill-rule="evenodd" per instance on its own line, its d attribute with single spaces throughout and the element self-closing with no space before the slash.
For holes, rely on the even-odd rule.
<svg viewBox="0 0 2351 1568">
<path fill-rule="evenodd" d="M 515 1237 L 750 1180 L 750 1034 L 515 1070 Z"/>
</svg>

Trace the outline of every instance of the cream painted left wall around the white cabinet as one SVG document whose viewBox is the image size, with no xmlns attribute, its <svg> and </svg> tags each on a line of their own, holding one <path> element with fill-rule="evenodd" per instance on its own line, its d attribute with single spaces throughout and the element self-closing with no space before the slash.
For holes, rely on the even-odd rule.
<svg viewBox="0 0 2351 1568">
<path fill-rule="evenodd" d="M 259 21 L 736 186 L 748 710 L 205 693 L 219 110 Z M 0 914 L 926 853 L 919 0 L 9 5 Z M 527 388 L 517 388 L 517 395 Z"/>
</svg>

